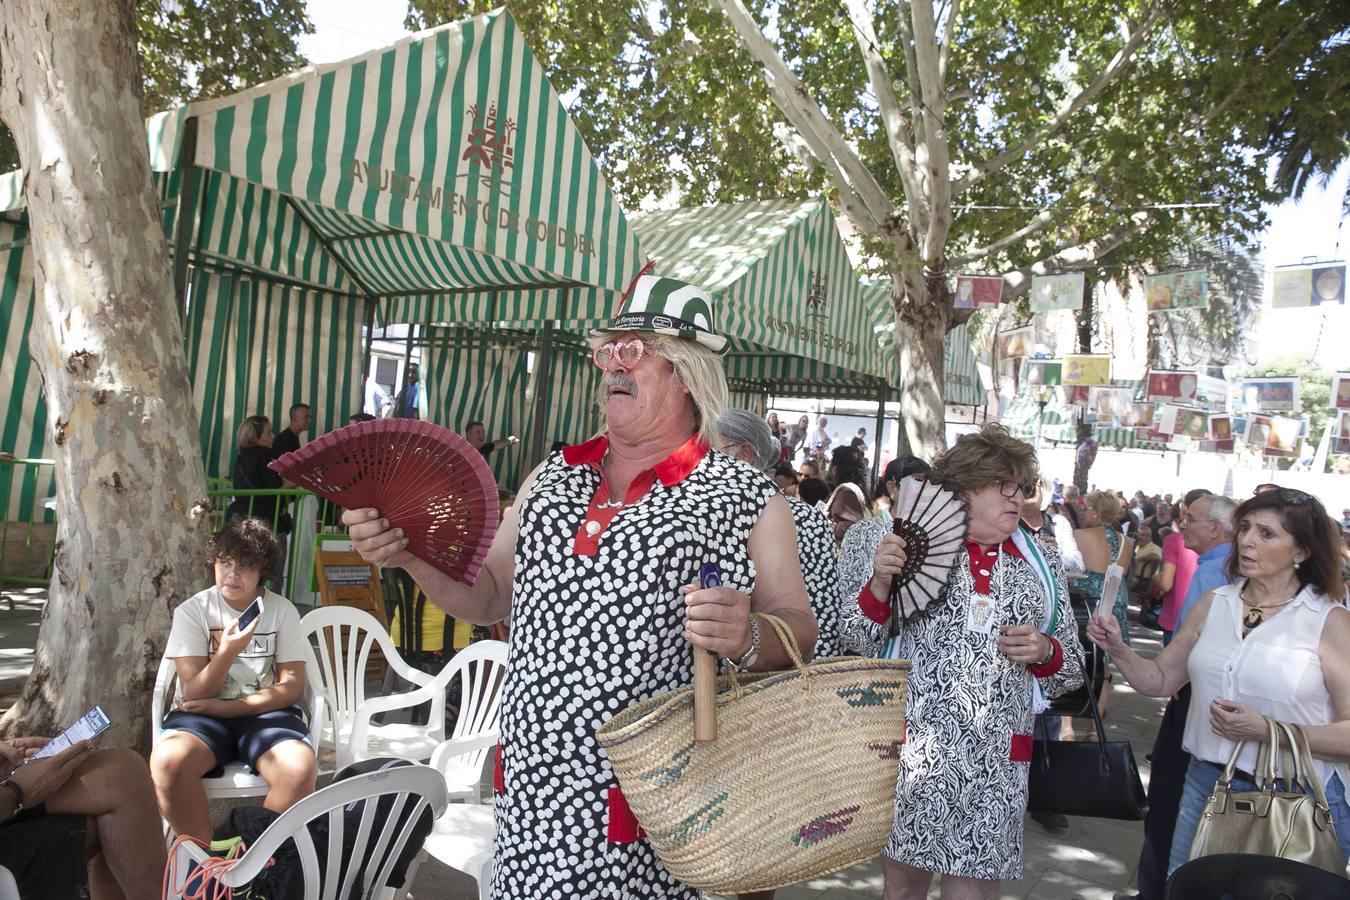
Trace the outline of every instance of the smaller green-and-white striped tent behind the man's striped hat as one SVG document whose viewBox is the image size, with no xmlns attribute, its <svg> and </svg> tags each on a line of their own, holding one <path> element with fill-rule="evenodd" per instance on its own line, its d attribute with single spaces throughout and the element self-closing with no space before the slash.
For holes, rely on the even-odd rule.
<svg viewBox="0 0 1350 900">
<path fill-rule="evenodd" d="M 734 406 L 763 413 L 768 394 L 876 399 L 887 385 L 891 370 L 875 332 L 884 313 L 868 306 L 826 201 L 682 208 L 634 215 L 632 223 L 655 262 L 655 274 L 698 285 L 711 296 L 714 328 L 728 337 L 725 363 Z M 493 313 L 504 317 L 504 328 L 552 329 L 547 375 L 528 376 L 536 395 L 548 390 L 551 398 L 547 421 L 536 430 L 548 440 L 578 440 L 601 425 L 601 372 L 590 363 L 586 336 L 618 312 L 621 294 L 574 289 L 580 300 L 570 304 L 574 312 L 568 314 L 564 291 L 541 293 L 547 314 L 559 310 L 554 321 L 531 317 L 539 305 L 514 293 L 479 302 L 495 304 Z M 451 322 L 452 313 L 440 301 L 436 308 L 410 301 L 396 309 L 406 321 Z M 454 364 L 440 358 L 458 359 L 459 352 L 427 351 L 437 360 L 435 368 L 451 371 Z M 524 366 L 524 358 L 510 363 L 504 358 L 504 364 Z M 525 379 L 522 371 L 510 376 Z M 475 401 L 468 405 L 474 407 Z M 471 409 L 462 417 L 474 417 Z"/>
</svg>

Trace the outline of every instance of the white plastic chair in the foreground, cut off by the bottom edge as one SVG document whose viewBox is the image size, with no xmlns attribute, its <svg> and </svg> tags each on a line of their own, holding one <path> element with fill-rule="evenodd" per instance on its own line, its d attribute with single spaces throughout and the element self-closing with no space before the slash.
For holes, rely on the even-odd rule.
<svg viewBox="0 0 1350 900">
<path fill-rule="evenodd" d="M 389 815 L 385 818 L 383 828 L 375 833 L 375 812 L 381 806 L 381 797 L 390 797 Z M 352 851 L 343 850 L 343 838 L 347 827 L 344 807 L 350 803 L 364 800 L 360 823 L 356 830 L 356 839 L 352 842 Z M 374 803 L 371 803 L 374 800 Z M 446 780 L 439 772 L 424 765 L 410 765 L 397 769 L 383 769 L 367 772 L 351 779 L 344 779 L 329 784 L 321 791 L 310 793 L 293 807 L 282 812 L 275 822 L 267 826 L 258 839 L 248 846 L 238 862 L 220 874 L 219 882 L 228 888 L 239 888 L 248 884 L 267 865 L 267 860 L 288 839 L 293 838 L 300 855 L 300 865 L 304 872 L 305 900 L 319 900 L 320 897 L 358 897 L 359 900 L 392 900 L 408 896 L 417 870 L 417 860 L 408 868 L 404 885 L 390 888 L 386 885 L 398 861 L 409 834 L 423 811 L 431 808 L 433 816 L 444 812 L 447 806 Z M 327 816 L 328 819 L 328 849 L 327 860 L 320 870 L 319 854 L 315 850 L 313 838 L 309 834 L 309 823 Z M 401 826 L 401 827 L 400 827 Z M 418 854 L 420 857 L 421 854 Z M 174 851 L 174 878 L 169 885 L 165 897 L 181 899 L 186 887 L 190 862 L 200 862 L 207 854 L 193 843 L 180 843 Z M 343 872 L 343 864 L 350 860 L 350 865 Z M 362 880 L 354 892 L 356 874 Z M 340 878 L 340 884 L 339 884 Z"/>
</svg>

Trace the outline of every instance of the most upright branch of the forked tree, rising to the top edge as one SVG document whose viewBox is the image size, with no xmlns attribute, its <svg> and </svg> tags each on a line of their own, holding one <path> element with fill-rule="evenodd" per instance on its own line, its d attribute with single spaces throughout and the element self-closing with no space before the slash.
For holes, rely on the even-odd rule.
<svg viewBox="0 0 1350 900">
<path fill-rule="evenodd" d="M 918 62 L 919 90 L 923 99 L 923 138 L 914 150 L 915 162 L 927 179 L 929 217 L 925 223 L 919 254 L 933 270 L 944 269 L 942 254 L 952 229 L 950 154 L 946 127 L 946 86 L 938 69 L 937 23 L 932 0 L 913 0 L 914 57 Z"/>
</svg>

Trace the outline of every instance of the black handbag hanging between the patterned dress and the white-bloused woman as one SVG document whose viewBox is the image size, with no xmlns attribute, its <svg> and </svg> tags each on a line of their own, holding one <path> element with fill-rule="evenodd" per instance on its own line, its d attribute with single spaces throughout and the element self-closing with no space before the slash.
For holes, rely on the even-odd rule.
<svg viewBox="0 0 1350 900">
<path fill-rule="evenodd" d="M 1088 694 L 1096 741 L 1037 741 L 1031 746 L 1029 812 L 1139 822 L 1149 801 L 1129 741 L 1104 739 L 1096 692 Z"/>
</svg>

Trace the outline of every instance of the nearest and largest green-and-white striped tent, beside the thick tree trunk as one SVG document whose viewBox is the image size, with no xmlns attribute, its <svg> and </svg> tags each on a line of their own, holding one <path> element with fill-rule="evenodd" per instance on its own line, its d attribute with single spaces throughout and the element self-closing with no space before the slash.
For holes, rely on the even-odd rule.
<svg viewBox="0 0 1350 900">
<path fill-rule="evenodd" d="M 494 352 L 497 322 L 602 314 L 636 274 L 622 210 L 502 9 L 159 113 L 147 131 L 211 475 L 228 475 L 246 416 L 304 401 L 315 433 L 344 424 L 362 402 L 362 325 L 452 322 Z M 0 347 L 7 371 L 30 372 L 0 425 L 36 456 L 22 205 L 19 173 L 0 178 Z"/>
</svg>

